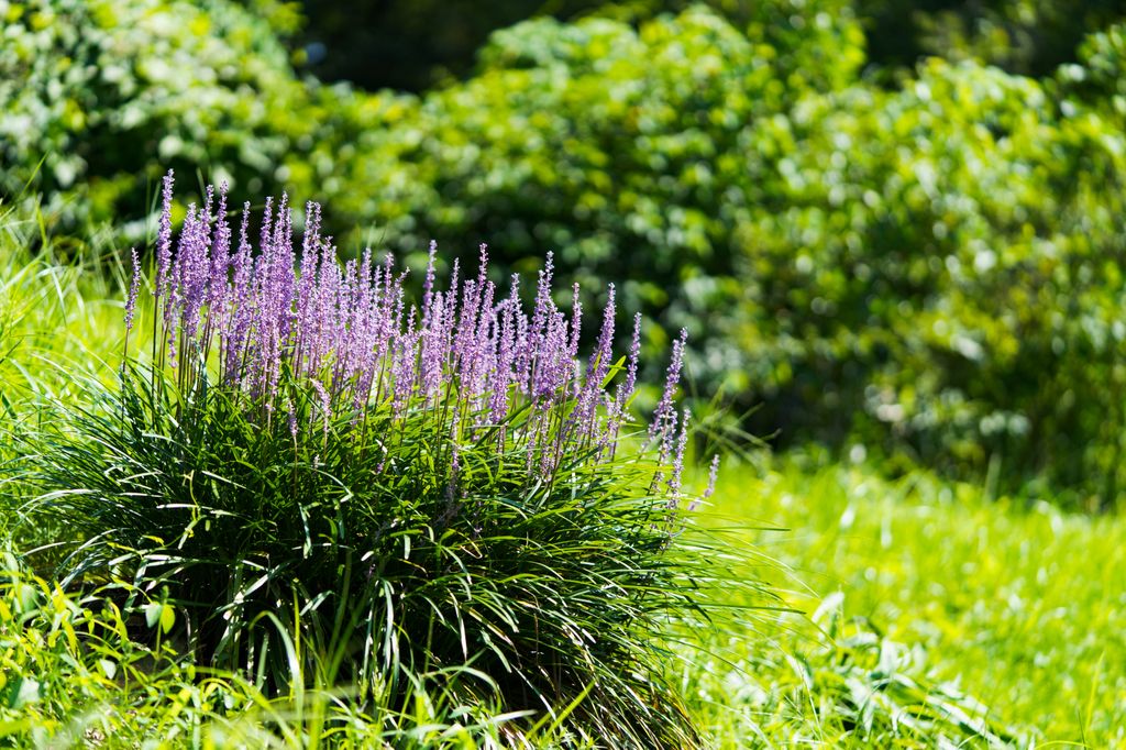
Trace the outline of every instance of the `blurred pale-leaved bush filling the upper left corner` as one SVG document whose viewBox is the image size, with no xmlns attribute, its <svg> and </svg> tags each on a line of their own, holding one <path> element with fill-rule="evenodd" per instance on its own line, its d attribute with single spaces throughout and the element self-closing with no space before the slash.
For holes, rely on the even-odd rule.
<svg viewBox="0 0 1126 750">
<path fill-rule="evenodd" d="M 275 189 L 314 91 L 276 36 L 291 21 L 265 18 L 227 0 L 0 3 L 0 196 L 42 194 L 51 223 L 81 235 L 145 216 L 169 166 Z"/>
</svg>

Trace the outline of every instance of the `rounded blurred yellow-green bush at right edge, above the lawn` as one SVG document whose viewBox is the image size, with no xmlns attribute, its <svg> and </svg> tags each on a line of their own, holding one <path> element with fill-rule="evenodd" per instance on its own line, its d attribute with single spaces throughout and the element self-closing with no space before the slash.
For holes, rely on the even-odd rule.
<svg viewBox="0 0 1126 750">
<path fill-rule="evenodd" d="M 742 227 L 761 426 L 977 476 L 1000 461 L 1009 489 L 1044 472 L 1115 502 L 1126 142 L 1072 111 L 1029 79 L 932 61 L 902 91 L 794 113 L 765 186 L 778 212 Z"/>
</svg>

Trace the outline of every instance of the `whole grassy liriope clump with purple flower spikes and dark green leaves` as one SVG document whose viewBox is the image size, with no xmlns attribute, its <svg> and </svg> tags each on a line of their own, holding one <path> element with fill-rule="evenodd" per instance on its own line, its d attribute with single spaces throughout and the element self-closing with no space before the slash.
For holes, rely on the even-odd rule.
<svg viewBox="0 0 1126 750">
<path fill-rule="evenodd" d="M 577 742 L 695 743 L 661 646 L 701 616 L 674 544 L 683 339 L 645 429 L 613 286 L 580 357 L 549 257 L 526 307 L 483 247 L 439 289 L 431 247 L 415 305 L 390 258 L 337 261 L 315 204 L 296 245 L 267 200 L 256 250 L 225 189 L 175 243 L 171 175 L 163 198 L 151 361 L 29 462 L 35 512 L 75 539 L 60 578 L 132 577 L 198 662 L 276 690 L 315 669 L 388 724 L 438 699 L 527 716 L 513 741 L 546 716 Z"/>
</svg>

